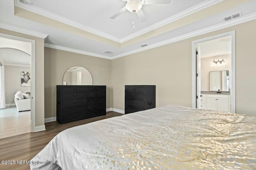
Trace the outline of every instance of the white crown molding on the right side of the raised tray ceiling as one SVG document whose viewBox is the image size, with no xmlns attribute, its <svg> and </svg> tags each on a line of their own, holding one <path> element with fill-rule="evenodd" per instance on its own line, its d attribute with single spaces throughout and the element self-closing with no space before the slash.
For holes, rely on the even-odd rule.
<svg viewBox="0 0 256 170">
<path fill-rule="evenodd" d="M 181 18 L 184 18 L 185 16 L 188 16 L 188 15 L 190 15 L 190 14 L 193 14 L 193 13 L 195 13 L 195 12 L 198 12 L 198 11 L 204 9 L 204 8 L 207 8 L 207 7 L 209 7 L 209 6 L 212 6 L 212 5 L 217 4 L 217 3 L 219 3 L 219 2 L 222 2 L 222 1 L 223 1 L 223 0 L 204 1 L 204 2 L 202 2 L 202 3 L 200 3 L 200 4 L 196 5 L 196 6 L 192 6 L 191 8 L 188 8 L 188 9 L 186 9 L 186 10 L 184 10 L 184 11 L 178 13 L 178 14 L 175 14 L 175 15 L 173 15 L 173 16 L 170 16 L 169 18 L 166 18 L 166 19 L 164 19 L 164 20 L 162 20 L 162 21 L 159 21 L 158 23 L 155 23 L 155 24 L 153 24 L 153 25 L 150 25 L 149 27 L 146 27 L 146 28 L 144 28 L 144 29 L 141 29 L 140 31 L 137 31 L 137 32 L 135 32 L 135 33 L 132 33 L 132 34 L 130 34 L 130 35 L 124 37 L 124 38 L 121 38 L 121 39 L 120 39 L 120 43 L 123 43 L 123 42 L 125 42 L 125 41 L 130 40 L 130 39 L 133 39 L 133 38 L 138 37 L 138 36 L 140 36 L 140 35 L 143 35 L 144 33 L 147 33 L 147 32 L 149 32 L 149 31 L 152 31 L 152 30 L 154 30 L 154 29 L 157 29 L 157 28 L 159 28 L 159 27 L 162 27 L 162 26 L 164 26 L 164 25 L 166 25 L 166 24 L 168 24 L 168 23 L 171 23 L 171 22 L 173 22 L 173 21 L 179 20 L 179 19 L 181 19 Z"/>
</svg>

